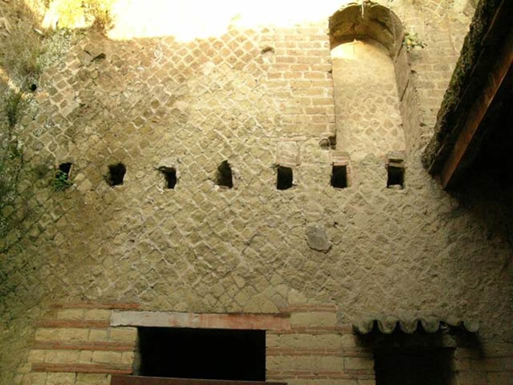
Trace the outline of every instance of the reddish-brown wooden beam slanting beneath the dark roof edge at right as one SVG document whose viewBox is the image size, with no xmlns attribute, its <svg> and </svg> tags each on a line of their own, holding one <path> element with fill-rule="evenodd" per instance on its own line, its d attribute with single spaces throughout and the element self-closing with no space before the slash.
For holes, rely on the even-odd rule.
<svg viewBox="0 0 513 385">
<path fill-rule="evenodd" d="M 496 101 L 499 89 L 505 83 L 505 79 L 509 76 L 508 74 L 512 71 L 513 29 L 510 26 L 511 21 L 507 17 L 507 15 L 511 13 L 510 9 L 507 9 L 507 7 L 511 6 L 505 5 L 505 2 L 503 2 L 492 22 L 490 31 L 488 31 L 485 36 L 485 41 L 491 40 L 492 42 L 501 44 L 501 48 L 495 53 L 498 61 L 488 75 L 488 82 L 485 88 L 480 95 L 477 95 L 476 101 L 473 103 L 472 108 L 465 118 L 465 123 L 459 133 L 458 139 L 442 166 L 440 180 L 444 188 L 449 187 L 456 179 L 455 176 L 462 161 L 469 155 L 470 144 L 476 138 L 476 133 L 483 128 L 481 123 L 484 121 L 492 103 Z M 501 13 L 501 11 L 503 13 Z M 495 29 L 495 31 L 492 29 Z M 499 39 L 499 41 L 497 41 L 497 35 L 500 35 L 501 30 L 509 30 L 509 32 L 502 40 Z M 486 42 L 484 44 L 486 45 Z M 489 54 L 489 52 L 483 52 L 485 55 L 487 53 Z"/>
</svg>

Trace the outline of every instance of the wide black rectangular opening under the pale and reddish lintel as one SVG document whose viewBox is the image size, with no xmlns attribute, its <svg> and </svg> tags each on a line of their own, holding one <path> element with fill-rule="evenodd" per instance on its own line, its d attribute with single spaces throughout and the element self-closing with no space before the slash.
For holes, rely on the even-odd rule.
<svg viewBox="0 0 513 385">
<path fill-rule="evenodd" d="M 265 331 L 139 328 L 140 376 L 265 381 Z"/>
</svg>

